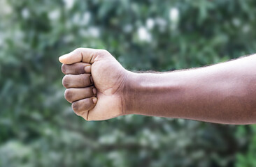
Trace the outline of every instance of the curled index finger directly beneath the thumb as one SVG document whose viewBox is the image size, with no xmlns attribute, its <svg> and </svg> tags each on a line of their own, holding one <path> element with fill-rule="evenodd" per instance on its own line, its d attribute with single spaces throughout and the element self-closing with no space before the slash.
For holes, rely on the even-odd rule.
<svg viewBox="0 0 256 167">
<path fill-rule="evenodd" d="M 63 64 L 62 72 L 64 74 L 84 74 L 85 72 L 90 73 L 91 64 L 89 63 L 73 63 L 71 65 Z"/>
</svg>

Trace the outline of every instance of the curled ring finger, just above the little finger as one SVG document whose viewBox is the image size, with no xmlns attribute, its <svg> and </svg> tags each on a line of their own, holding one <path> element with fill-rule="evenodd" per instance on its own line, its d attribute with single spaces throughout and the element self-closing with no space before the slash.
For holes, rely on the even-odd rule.
<svg viewBox="0 0 256 167">
<path fill-rule="evenodd" d="M 94 88 L 94 86 L 87 88 L 69 88 L 65 90 L 65 99 L 72 103 L 88 97 L 94 97 L 96 93 L 97 90 Z"/>
</svg>

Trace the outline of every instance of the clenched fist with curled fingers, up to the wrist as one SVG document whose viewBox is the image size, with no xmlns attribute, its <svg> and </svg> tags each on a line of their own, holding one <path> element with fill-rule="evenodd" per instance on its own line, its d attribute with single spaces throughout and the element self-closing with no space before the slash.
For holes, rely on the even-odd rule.
<svg viewBox="0 0 256 167">
<path fill-rule="evenodd" d="M 62 84 L 73 111 L 85 120 L 125 115 L 128 71 L 106 50 L 78 48 L 59 57 L 66 76 Z"/>
</svg>

